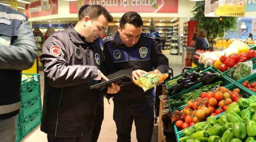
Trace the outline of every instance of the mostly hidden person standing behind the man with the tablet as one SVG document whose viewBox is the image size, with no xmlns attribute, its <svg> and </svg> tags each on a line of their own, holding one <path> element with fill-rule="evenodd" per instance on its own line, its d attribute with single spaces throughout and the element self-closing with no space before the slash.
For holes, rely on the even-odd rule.
<svg viewBox="0 0 256 142">
<path fill-rule="evenodd" d="M 88 6 L 90 6 L 90 5 L 85 4 L 79 9 L 78 17 L 80 17 L 80 15 L 84 11 L 84 9 L 87 8 Z M 103 52 L 104 43 L 103 43 L 102 37 L 100 36 L 99 38 L 97 38 L 95 40 L 95 42 L 100 46 L 100 49 Z M 102 60 L 104 61 L 104 56 L 102 57 Z M 95 121 L 94 121 L 93 129 L 92 129 L 92 142 L 97 142 L 97 140 L 99 138 L 103 119 L 104 119 L 104 95 L 101 94 L 99 102 L 97 104 Z"/>
</svg>

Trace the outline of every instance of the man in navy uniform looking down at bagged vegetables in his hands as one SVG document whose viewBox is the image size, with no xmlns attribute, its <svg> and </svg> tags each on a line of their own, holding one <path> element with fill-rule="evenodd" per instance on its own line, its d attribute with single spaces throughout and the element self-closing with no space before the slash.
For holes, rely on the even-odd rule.
<svg viewBox="0 0 256 142">
<path fill-rule="evenodd" d="M 167 73 L 168 58 L 154 40 L 155 36 L 142 32 L 143 22 L 136 12 L 123 15 L 115 35 L 103 39 L 107 74 L 132 68 L 132 79 L 138 79 L 149 71 Z M 103 71 L 103 70 L 102 70 Z M 152 89 L 144 92 L 133 84 L 121 87 L 114 94 L 114 121 L 117 142 L 131 142 L 133 120 L 138 142 L 150 142 L 154 126 L 154 95 Z"/>
</svg>

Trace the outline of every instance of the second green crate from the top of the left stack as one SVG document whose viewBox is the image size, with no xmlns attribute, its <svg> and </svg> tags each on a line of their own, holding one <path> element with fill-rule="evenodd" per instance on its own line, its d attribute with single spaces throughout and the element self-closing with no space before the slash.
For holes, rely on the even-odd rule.
<svg viewBox="0 0 256 142">
<path fill-rule="evenodd" d="M 41 97 L 40 85 L 20 93 L 20 107 L 25 107 L 30 102 L 35 101 L 35 98 L 38 98 L 39 96 Z"/>
</svg>

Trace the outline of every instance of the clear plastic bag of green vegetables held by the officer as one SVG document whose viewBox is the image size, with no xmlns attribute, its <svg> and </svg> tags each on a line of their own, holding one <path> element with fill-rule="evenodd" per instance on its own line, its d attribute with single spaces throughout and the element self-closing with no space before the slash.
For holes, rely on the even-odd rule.
<svg viewBox="0 0 256 142">
<path fill-rule="evenodd" d="M 146 92 L 148 89 L 164 81 L 167 77 L 168 73 L 154 73 L 154 71 L 150 71 L 140 76 L 134 83 Z"/>
</svg>

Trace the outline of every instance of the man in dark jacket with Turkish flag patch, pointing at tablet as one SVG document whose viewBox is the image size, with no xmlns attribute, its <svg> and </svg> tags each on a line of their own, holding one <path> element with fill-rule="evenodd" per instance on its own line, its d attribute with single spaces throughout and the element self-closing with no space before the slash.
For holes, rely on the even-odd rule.
<svg viewBox="0 0 256 142">
<path fill-rule="evenodd" d="M 113 17 L 100 5 L 90 5 L 77 24 L 52 34 L 43 45 L 44 103 L 41 131 L 48 142 L 91 142 L 96 105 L 100 97 L 90 86 L 101 78 L 100 47 L 94 42 Z M 107 93 L 116 93 L 112 84 Z"/>
</svg>

